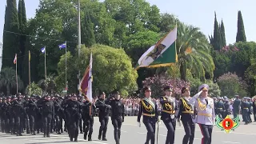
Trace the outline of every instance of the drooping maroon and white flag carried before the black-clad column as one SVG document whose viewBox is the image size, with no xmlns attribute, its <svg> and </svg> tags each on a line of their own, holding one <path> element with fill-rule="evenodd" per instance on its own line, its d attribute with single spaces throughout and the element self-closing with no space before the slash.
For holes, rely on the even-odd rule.
<svg viewBox="0 0 256 144">
<path fill-rule="evenodd" d="M 90 102 L 93 102 L 93 94 L 92 94 L 92 66 L 93 66 L 93 56 L 90 54 L 90 65 L 86 68 L 86 72 L 82 77 L 82 81 L 80 82 L 79 90 L 82 94 L 86 95 L 86 99 Z"/>
</svg>

